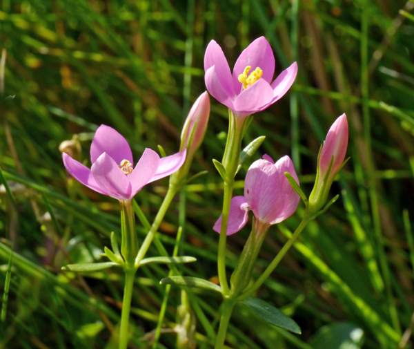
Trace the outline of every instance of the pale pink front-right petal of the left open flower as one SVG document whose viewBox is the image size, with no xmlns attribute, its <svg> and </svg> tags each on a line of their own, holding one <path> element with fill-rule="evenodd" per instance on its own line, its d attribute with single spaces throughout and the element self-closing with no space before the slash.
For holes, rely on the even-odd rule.
<svg viewBox="0 0 414 349">
<path fill-rule="evenodd" d="M 146 148 L 139 158 L 135 169 L 130 173 L 131 196 L 135 196 L 137 191 L 150 182 L 152 176 L 159 166 L 159 155 L 152 149 Z"/>
</svg>

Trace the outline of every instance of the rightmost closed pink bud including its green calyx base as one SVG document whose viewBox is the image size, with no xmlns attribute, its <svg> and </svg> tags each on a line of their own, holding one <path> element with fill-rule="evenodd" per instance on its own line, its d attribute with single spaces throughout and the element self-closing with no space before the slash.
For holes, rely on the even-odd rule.
<svg viewBox="0 0 414 349">
<path fill-rule="evenodd" d="M 309 197 L 309 211 L 316 213 L 328 198 L 333 179 L 344 164 L 348 147 L 348 120 L 342 114 L 332 124 L 318 155 L 315 185 Z"/>
</svg>

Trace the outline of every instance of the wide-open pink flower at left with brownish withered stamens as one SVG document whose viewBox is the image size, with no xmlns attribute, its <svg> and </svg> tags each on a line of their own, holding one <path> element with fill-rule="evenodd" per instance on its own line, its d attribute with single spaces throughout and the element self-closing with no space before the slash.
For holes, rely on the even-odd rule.
<svg viewBox="0 0 414 349">
<path fill-rule="evenodd" d="M 118 200 L 129 200 L 144 185 L 169 176 L 186 160 L 186 150 L 164 158 L 146 148 L 134 167 L 126 139 L 110 126 L 101 125 L 90 145 L 92 167 L 62 154 L 66 170 L 86 187 Z"/>
</svg>

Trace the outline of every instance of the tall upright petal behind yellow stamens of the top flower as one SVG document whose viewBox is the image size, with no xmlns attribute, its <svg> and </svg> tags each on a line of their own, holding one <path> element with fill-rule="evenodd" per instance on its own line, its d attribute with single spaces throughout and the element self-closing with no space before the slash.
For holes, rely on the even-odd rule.
<svg viewBox="0 0 414 349">
<path fill-rule="evenodd" d="M 269 84 L 275 74 L 275 56 L 273 50 L 265 37 L 258 37 L 247 46 L 237 58 L 233 68 L 233 86 L 238 93 L 241 91 L 242 84 L 239 83 L 239 74 L 243 73 L 246 66 L 251 66 L 251 71 L 259 67 L 263 70 L 262 78 Z"/>
</svg>

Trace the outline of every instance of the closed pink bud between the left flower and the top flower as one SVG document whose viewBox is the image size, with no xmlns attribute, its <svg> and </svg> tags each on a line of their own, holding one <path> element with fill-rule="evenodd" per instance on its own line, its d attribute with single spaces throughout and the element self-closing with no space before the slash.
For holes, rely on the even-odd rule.
<svg viewBox="0 0 414 349">
<path fill-rule="evenodd" d="M 210 98 L 208 93 L 201 93 L 188 113 L 181 131 L 181 150 L 187 149 L 193 155 L 203 142 L 210 116 Z"/>
</svg>

